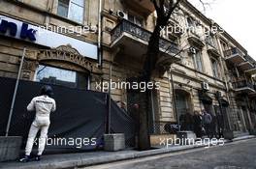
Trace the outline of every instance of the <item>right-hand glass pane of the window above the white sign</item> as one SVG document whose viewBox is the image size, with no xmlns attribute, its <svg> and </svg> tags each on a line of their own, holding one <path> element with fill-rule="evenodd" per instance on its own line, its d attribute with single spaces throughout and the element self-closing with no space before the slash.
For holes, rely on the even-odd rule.
<svg viewBox="0 0 256 169">
<path fill-rule="evenodd" d="M 71 3 L 69 18 L 82 23 L 83 22 L 83 8 L 81 8 L 80 6 L 78 6 L 74 3 Z"/>
</svg>

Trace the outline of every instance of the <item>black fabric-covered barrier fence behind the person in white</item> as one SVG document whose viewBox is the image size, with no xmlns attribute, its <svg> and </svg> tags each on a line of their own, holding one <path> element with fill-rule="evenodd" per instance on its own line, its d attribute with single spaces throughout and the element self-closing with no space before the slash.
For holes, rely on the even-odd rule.
<svg viewBox="0 0 256 169">
<path fill-rule="evenodd" d="M 0 135 L 4 136 L 16 79 L 0 77 Z M 11 121 L 10 136 L 22 136 L 24 148 L 29 127 L 35 112 L 27 112 L 30 100 L 39 95 L 44 84 L 20 80 L 14 113 Z M 46 152 L 74 152 L 96 150 L 103 146 L 109 113 L 106 93 L 78 90 L 51 85 L 57 109 L 50 114 L 50 127 Z M 134 122 L 114 101 L 111 102 L 111 131 L 124 133 L 126 146 L 134 144 Z"/>
</svg>

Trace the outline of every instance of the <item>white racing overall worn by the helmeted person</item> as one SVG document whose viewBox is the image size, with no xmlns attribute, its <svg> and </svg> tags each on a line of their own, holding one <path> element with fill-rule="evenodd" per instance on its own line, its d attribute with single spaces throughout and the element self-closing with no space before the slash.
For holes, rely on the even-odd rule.
<svg viewBox="0 0 256 169">
<path fill-rule="evenodd" d="M 38 155 L 42 155 L 46 145 L 46 139 L 48 136 L 49 127 L 49 114 L 55 111 L 56 103 L 54 99 L 48 96 L 35 97 L 27 106 L 28 111 L 36 111 L 36 117 L 29 129 L 25 155 L 30 155 L 35 137 L 39 129 L 41 129 L 41 134 L 39 138 Z"/>
</svg>

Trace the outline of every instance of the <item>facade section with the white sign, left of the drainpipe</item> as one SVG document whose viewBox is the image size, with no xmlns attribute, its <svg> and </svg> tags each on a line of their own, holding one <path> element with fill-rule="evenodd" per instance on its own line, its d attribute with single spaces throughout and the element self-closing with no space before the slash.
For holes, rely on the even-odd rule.
<svg viewBox="0 0 256 169">
<path fill-rule="evenodd" d="M 1 1 L 1 76 L 16 77 L 26 48 L 22 79 L 90 87 L 100 73 L 98 3 L 68 2 Z"/>
</svg>

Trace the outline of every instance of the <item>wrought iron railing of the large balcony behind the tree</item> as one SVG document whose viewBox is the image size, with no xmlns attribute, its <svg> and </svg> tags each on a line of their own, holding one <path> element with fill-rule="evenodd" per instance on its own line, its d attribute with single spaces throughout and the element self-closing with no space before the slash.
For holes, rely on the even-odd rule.
<svg viewBox="0 0 256 169">
<path fill-rule="evenodd" d="M 138 39 L 148 42 L 151 36 L 151 32 L 145 30 L 143 27 L 130 22 L 129 20 L 122 19 L 113 29 L 112 29 L 112 42 L 117 40 L 122 36 L 123 33 L 128 33 Z M 177 54 L 179 52 L 178 45 L 175 42 L 160 38 L 159 48 L 166 53 Z"/>
</svg>

